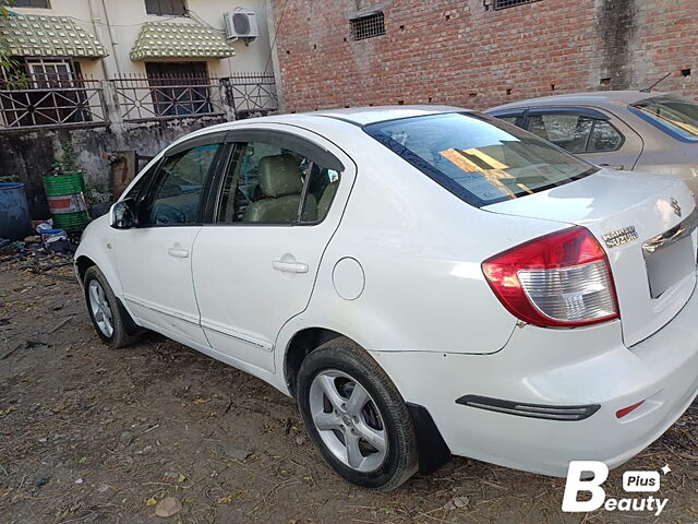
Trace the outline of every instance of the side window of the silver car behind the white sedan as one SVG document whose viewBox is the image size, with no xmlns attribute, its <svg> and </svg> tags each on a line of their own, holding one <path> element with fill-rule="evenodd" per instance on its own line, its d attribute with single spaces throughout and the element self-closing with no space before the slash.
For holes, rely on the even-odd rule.
<svg viewBox="0 0 698 524">
<path fill-rule="evenodd" d="M 570 153 L 615 151 L 623 143 L 611 123 L 586 115 L 532 115 L 528 130 Z"/>
</svg>

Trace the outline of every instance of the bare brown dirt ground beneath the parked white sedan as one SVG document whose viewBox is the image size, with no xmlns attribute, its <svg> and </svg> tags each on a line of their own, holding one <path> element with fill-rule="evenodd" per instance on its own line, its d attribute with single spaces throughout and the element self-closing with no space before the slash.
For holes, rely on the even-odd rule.
<svg viewBox="0 0 698 524">
<path fill-rule="evenodd" d="M 264 382 L 158 335 L 103 346 L 68 263 L 0 259 L 2 524 L 698 521 L 698 404 L 604 485 L 623 497 L 623 471 L 669 464 L 660 517 L 564 514 L 563 479 L 465 458 L 366 492 L 325 466 L 294 402 Z M 155 516 L 167 497 L 181 510 Z"/>
</svg>

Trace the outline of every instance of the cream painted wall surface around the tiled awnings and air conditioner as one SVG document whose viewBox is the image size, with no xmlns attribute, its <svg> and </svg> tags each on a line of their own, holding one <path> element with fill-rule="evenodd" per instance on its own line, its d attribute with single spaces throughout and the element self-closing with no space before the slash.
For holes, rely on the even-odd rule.
<svg viewBox="0 0 698 524">
<path fill-rule="evenodd" d="M 198 17 L 205 24 L 222 31 L 222 13 L 236 8 L 250 9 L 256 13 L 260 37 L 249 46 L 240 40 L 232 44 L 236 50 L 232 58 L 207 60 L 208 72 L 216 76 L 228 76 L 233 73 L 262 72 L 265 67 L 269 73 L 273 72 L 264 0 L 186 0 L 192 17 L 149 15 L 145 12 L 145 0 L 50 0 L 50 3 L 51 9 L 13 8 L 13 11 L 19 14 L 71 16 L 75 23 L 97 36 L 110 57 L 105 60 L 80 59 L 83 73 L 96 79 L 111 76 L 117 71 L 122 74 L 145 74 L 144 62 L 134 62 L 129 56 L 144 22 L 193 23 Z M 93 13 L 101 23 L 94 23 Z M 106 25 L 107 21 L 111 33 Z"/>
</svg>

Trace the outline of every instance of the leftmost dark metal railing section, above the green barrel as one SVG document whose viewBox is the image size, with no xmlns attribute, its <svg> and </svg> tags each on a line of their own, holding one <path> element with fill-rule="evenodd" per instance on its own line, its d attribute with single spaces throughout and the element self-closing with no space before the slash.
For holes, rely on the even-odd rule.
<svg viewBox="0 0 698 524">
<path fill-rule="evenodd" d="M 1 87 L 1 86 L 0 86 Z M 98 81 L 61 86 L 0 88 L 0 130 L 108 123 Z"/>
</svg>

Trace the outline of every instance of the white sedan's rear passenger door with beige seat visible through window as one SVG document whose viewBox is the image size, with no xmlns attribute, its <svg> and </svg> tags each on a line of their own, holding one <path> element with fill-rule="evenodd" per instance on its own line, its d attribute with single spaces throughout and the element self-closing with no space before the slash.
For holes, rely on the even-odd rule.
<svg viewBox="0 0 698 524">
<path fill-rule="evenodd" d="M 194 243 L 194 286 L 212 347 L 274 371 L 276 336 L 310 300 L 353 164 L 308 131 L 233 135 L 216 225 Z"/>
</svg>

